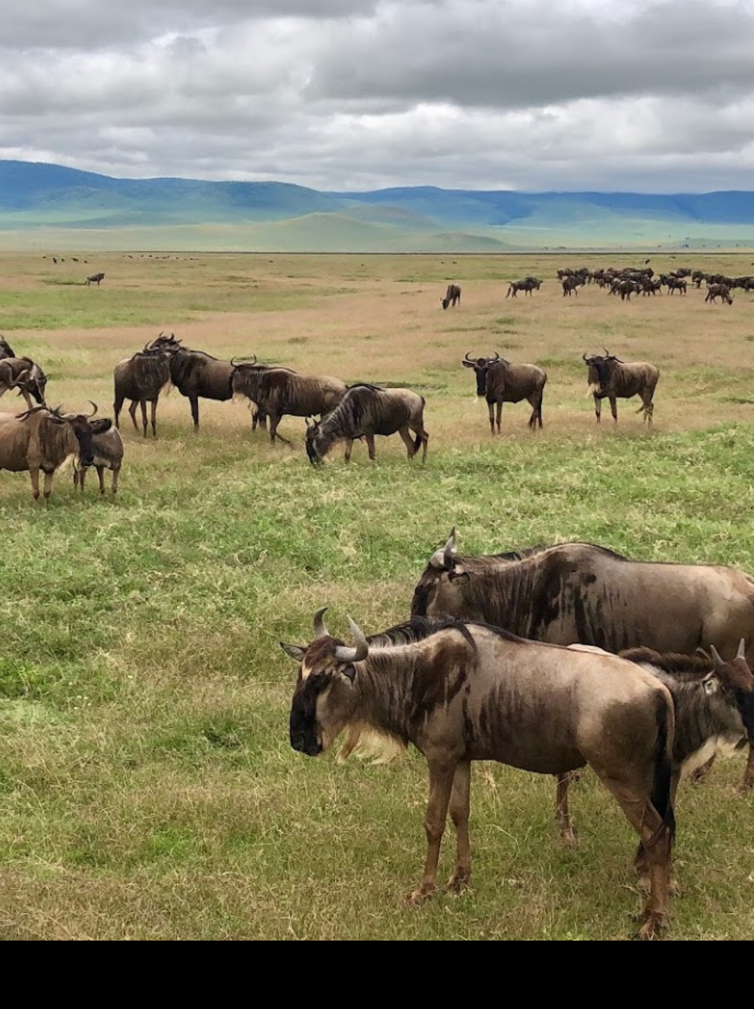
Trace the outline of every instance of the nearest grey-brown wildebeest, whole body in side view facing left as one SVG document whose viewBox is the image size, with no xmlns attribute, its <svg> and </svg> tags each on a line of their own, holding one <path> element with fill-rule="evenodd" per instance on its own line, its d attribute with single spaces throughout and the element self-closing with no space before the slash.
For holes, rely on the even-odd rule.
<svg viewBox="0 0 754 1009">
<path fill-rule="evenodd" d="M 448 622 L 411 644 L 374 647 L 349 620 L 355 647 L 346 647 L 329 635 L 322 613 L 308 647 L 283 645 L 301 663 L 291 746 L 316 757 L 347 731 L 346 751 L 364 734 L 372 752 L 382 737 L 424 755 L 427 857 L 409 902 L 436 889 L 448 811 L 456 860 L 447 888 L 457 893 L 468 883 L 472 761 L 553 775 L 588 764 L 645 849 L 651 883 L 639 934 L 656 936 L 667 912 L 674 832 L 667 687 L 617 656 L 523 641 L 481 624 Z"/>
</svg>

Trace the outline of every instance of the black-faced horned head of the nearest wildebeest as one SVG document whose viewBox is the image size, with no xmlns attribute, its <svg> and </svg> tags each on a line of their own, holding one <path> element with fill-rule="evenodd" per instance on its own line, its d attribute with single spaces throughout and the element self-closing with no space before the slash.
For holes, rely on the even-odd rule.
<svg viewBox="0 0 754 1009">
<path fill-rule="evenodd" d="M 291 704 L 290 739 L 293 749 L 307 757 L 329 750 L 350 721 L 357 703 L 354 663 L 369 654 L 366 639 L 350 618 L 353 648 L 330 636 L 324 612 L 319 609 L 314 615 L 315 638 L 309 646 L 281 642 L 283 650 L 301 663 Z"/>
</svg>

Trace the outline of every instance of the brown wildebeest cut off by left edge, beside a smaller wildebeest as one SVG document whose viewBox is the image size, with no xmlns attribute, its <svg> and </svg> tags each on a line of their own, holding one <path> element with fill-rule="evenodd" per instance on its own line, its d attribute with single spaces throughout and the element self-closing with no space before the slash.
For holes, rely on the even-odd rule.
<svg viewBox="0 0 754 1009">
<path fill-rule="evenodd" d="M 91 401 L 90 401 L 91 402 Z M 39 471 L 44 473 L 44 498 L 52 489 L 55 471 L 71 456 L 82 466 L 94 463 L 90 419 L 97 413 L 62 414 L 60 409 L 34 407 L 24 414 L 0 414 L 0 469 L 28 472 L 34 500 L 39 497 Z"/>
</svg>

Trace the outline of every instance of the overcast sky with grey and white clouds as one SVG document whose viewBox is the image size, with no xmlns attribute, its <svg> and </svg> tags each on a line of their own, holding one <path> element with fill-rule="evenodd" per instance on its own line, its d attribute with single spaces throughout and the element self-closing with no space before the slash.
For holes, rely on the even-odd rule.
<svg viewBox="0 0 754 1009">
<path fill-rule="evenodd" d="M 754 189 L 754 0 L 9 0 L 0 158 L 324 190 Z"/>
</svg>

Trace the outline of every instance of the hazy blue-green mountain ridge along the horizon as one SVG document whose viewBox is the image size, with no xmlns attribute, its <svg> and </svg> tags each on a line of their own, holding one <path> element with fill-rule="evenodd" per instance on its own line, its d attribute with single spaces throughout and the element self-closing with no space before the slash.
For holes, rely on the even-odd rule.
<svg viewBox="0 0 754 1009">
<path fill-rule="evenodd" d="M 312 215 L 317 215 L 312 219 Z M 274 225 L 287 223 L 285 234 Z M 298 222 L 301 226 L 292 226 Z M 754 243 L 754 192 L 522 193 L 431 186 L 320 192 L 287 183 L 115 179 L 32 161 L 0 160 L 0 231 L 244 225 L 297 250 L 726 239 Z M 262 239 L 263 236 L 263 239 Z M 318 238 L 318 236 L 321 236 Z M 317 248 L 307 247 L 307 251 Z"/>
</svg>

